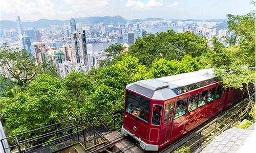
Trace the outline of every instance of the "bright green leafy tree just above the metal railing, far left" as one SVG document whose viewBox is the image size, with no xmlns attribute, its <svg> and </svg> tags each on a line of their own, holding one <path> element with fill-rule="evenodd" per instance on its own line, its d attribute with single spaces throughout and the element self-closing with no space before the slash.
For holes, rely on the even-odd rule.
<svg viewBox="0 0 256 153">
<path fill-rule="evenodd" d="M 27 90 L 13 97 L 2 97 L 6 126 L 18 134 L 69 118 L 66 92 L 58 78 L 40 74 Z"/>
</svg>

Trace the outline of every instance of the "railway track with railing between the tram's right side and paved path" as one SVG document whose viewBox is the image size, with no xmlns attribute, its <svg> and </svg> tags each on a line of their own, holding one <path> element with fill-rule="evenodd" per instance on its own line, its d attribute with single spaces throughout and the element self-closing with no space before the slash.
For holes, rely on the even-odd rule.
<svg viewBox="0 0 256 153">
<path fill-rule="evenodd" d="M 255 92 L 251 94 L 251 97 L 254 98 L 254 96 Z M 160 152 L 173 152 L 182 146 L 190 147 L 191 152 L 199 152 L 215 136 L 232 127 L 235 122 L 241 120 L 249 110 L 247 106 L 248 99 L 240 101 L 240 103 L 224 110 L 211 120 L 200 125 L 193 132 L 160 150 Z"/>
</svg>

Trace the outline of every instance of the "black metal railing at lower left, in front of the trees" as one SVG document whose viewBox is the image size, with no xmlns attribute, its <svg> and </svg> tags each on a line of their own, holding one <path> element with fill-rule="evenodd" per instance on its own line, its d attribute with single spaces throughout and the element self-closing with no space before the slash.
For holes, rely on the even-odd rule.
<svg viewBox="0 0 256 153">
<path fill-rule="evenodd" d="M 1 139 L 4 152 L 56 152 L 79 142 L 103 140 L 102 132 L 113 132 L 122 125 L 122 114 L 88 114 Z M 8 141 L 10 146 L 6 146 Z"/>
</svg>

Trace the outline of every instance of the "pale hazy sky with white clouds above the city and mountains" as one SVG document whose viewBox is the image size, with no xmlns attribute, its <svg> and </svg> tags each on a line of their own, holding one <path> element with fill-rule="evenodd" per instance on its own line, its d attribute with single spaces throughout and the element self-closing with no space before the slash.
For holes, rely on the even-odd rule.
<svg viewBox="0 0 256 153">
<path fill-rule="evenodd" d="M 126 19 L 160 17 L 217 19 L 226 14 L 246 14 L 250 0 L 0 0 L 0 20 L 22 21 L 114 16 Z"/>
</svg>

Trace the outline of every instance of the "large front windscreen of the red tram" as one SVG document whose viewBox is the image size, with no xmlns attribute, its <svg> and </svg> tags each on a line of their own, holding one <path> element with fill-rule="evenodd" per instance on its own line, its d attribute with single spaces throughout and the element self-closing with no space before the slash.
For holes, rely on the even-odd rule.
<svg viewBox="0 0 256 153">
<path fill-rule="evenodd" d="M 127 92 L 126 95 L 126 112 L 148 122 L 148 116 L 150 112 L 150 101 Z"/>
</svg>

